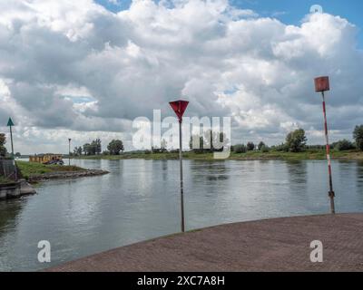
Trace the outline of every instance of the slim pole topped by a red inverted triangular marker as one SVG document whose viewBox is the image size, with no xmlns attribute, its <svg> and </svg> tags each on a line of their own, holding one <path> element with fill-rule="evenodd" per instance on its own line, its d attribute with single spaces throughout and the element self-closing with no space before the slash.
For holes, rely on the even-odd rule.
<svg viewBox="0 0 363 290">
<path fill-rule="evenodd" d="M 180 174 L 181 174 L 181 210 L 182 210 L 182 232 L 185 232 L 184 222 L 184 189 L 182 182 L 182 115 L 188 107 L 189 102 L 186 101 L 175 101 L 170 102 L 172 110 L 175 111 L 179 120 L 179 160 L 180 160 Z"/>
</svg>

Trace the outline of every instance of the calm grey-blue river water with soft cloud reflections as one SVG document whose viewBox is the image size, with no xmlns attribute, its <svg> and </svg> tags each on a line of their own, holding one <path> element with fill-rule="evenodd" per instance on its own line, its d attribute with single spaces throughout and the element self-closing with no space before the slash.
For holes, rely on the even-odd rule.
<svg viewBox="0 0 363 290">
<path fill-rule="evenodd" d="M 53 180 L 0 202 L 0 270 L 36 270 L 180 228 L 178 160 L 73 160 L 102 177 Z M 329 213 L 325 161 L 184 161 L 187 229 Z M 338 212 L 363 211 L 363 163 L 333 162 Z"/>
</svg>

